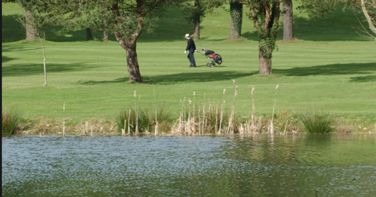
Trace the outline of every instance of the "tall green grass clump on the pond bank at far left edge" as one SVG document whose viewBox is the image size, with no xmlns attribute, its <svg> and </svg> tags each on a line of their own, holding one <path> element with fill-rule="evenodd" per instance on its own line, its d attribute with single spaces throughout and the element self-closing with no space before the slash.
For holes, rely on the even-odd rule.
<svg viewBox="0 0 376 197">
<path fill-rule="evenodd" d="M 15 134 L 21 116 L 18 111 L 2 109 L 2 135 Z"/>
</svg>

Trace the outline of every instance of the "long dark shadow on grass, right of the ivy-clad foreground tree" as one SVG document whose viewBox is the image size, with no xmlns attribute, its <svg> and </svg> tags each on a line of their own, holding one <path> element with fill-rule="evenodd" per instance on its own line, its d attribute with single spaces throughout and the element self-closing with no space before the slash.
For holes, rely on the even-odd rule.
<svg viewBox="0 0 376 197">
<path fill-rule="evenodd" d="M 329 64 L 310 67 L 295 67 L 290 69 L 273 69 L 273 73 L 286 76 L 308 76 L 308 75 L 338 75 L 338 74 L 371 74 L 368 77 L 355 77 L 352 82 L 368 82 L 374 80 L 376 64 L 351 63 L 351 64 Z"/>
</svg>

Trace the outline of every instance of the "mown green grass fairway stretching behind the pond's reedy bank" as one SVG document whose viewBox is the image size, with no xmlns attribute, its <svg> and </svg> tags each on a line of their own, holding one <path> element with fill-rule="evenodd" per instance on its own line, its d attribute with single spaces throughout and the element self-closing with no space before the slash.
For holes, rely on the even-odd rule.
<svg viewBox="0 0 376 197">
<path fill-rule="evenodd" d="M 218 9 L 217 16 L 204 18 L 196 46 L 221 54 L 223 63 L 206 67 L 209 60 L 196 53 L 198 67 L 190 68 L 183 53 L 184 34 L 193 34 L 193 24 L 178 9 L 170 9 L 166 14 L 174 17 L 161 18 L 158 27 L 152 33 L 143 32 L 137 42 L 141 75 L 147 79 L 144 84 L 128 83 L 126 52 L 117 42 L 86 42 L 85 31 L 55 27 L 46 34 L 47 87 L 41 45 L 25 43 L 24 29 L 13 18 L 22 15 L 21 9 L 2 4 L 2 13 L 2 106 L 18 109 L 30 121 L 112 123 L 121 109 L 135 102 L 164 102 L 176 114 L 184 99 L 215 104 L 226 100 L 230 108 L 235 80 L 235 111 L 241 116 L 249 116 L 252 110 L 254 87 L 258 115 L 271 116 L 275 100 L 276 113 L 321 108 L 338 119 L 344 117 L 357 130 L 375 131 L 376 48 L 374 41 L 354 30 L 360 24 L 352 12 L 339 9 L 316 21 L 294 12 L 296 40 L 278 42 L 273 74 L 266 76 L 258 74 L 257 33 L 245 14 L 241 42 L 227 41 L 230 16 L 226 11 Z M 93 35 L 100 40 L 99 32 Z M 280 31 L 278 37 L 282 35 Z"/>
</svg>

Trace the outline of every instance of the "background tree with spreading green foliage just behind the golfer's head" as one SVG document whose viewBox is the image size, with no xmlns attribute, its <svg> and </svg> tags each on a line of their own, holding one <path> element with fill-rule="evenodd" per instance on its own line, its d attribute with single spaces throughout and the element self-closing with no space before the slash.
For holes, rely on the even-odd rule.
<svg viewBox="0 0 376 197">
<path fill-rule="evenodd" d="M 194 40 L 200 40 L 201 19 L 205 18 L 206 14 L 213 13 L 214 8 L 219 8 L 224 3 L 224 0 L 194 0 L 178 4 L 179 7 L 183 8 L 185 19 L 193 22 Z"/>
</svg>

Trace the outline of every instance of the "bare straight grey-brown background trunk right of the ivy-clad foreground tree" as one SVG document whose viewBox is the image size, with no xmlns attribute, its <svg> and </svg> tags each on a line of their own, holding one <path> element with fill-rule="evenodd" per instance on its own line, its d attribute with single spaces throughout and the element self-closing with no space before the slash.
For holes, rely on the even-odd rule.
<svg viewBox="0 0 376 197">
<path fill-rule="evenodd" d="M 284 41 L 294 38 L 293 28 L 293 3 L 292 0 L 285 0 L 283 3 L 284 15 Z"/>
</svg>

